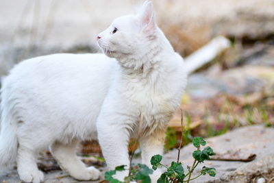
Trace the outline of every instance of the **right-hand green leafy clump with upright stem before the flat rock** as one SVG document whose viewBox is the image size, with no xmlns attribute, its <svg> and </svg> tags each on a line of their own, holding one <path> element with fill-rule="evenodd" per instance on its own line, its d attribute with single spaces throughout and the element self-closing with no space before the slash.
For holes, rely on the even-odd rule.
<svg viewBox="0 0 274 183">
<path fill-rule="evenodd" d="M 177 182 L 190 182 L 190 180 L 195 180 L 199 178 L 201 175 L 216 175 L 216 169 L 203 167 L 199 175 L 195 178 L 191 178 L 191 175 L 197 165 L 202 163 L 204 160 L 208 160 L 210 156 L 214 155 L 213 149 L 211 147 L 206 147 L 205 149 L 201 150 L 201 146 L 206 145 L 206 141 L 203 140 L 201 137 L 195 137 L 193 139 L 193 145 L 197 148 L 196 151 L 193 151 L 192 157 L 195 159 L 192 167 L 188 167 L 188 172 L 184 172 L 184 167 L 182 166 L 182 162 L 171 162 L 171 166 L 167 167 L 164 164 L 161 164 L 162 156 L 155 155 L 151 158 L 151 165 L 152 169 L 156 170 L 159 167 L 165 167 L 166 171 L 162 173 L 160 178 L 158 179 L 158 183 L 177 183 Z"/>
</svg>

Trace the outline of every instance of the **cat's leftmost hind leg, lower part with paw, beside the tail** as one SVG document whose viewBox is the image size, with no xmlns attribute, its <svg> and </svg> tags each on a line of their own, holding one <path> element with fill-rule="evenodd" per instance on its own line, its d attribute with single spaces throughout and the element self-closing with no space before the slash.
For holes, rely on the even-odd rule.
<svg viewBox="0 0 274 183">
<path fill-rule="evenodd" d="M 36 164 L 36 151 L 19 144 L 17 151 L 17 170 L 23 182 L 40 183 L 44 179 Z"/>
</svg>

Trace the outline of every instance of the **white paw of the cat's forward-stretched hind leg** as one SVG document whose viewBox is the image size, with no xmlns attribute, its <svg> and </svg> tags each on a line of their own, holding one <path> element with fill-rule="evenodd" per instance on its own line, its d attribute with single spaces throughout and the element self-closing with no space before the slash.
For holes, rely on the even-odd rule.
<svg viewBox="0 0 274 183">
<path fill-rule="evenodd" d="M 98 180 L 100 176 L 100 171 L 95 169 L 95 167 L 88 167 L 85 171 L 81 171 L 77 173 L 77 175 L 73 175 L 73 178 L 77 180 Z"/>
</svg>

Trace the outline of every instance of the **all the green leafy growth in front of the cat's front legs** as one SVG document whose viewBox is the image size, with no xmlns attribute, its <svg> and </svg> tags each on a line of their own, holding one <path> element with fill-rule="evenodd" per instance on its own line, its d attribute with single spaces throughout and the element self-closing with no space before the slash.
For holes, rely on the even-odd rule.
<svg viewBox="0 0 274 183">
<path fill-rule="evenodd" d="M 211 147 L 206 147 L 201 150 L 201 146 L 206 145 L 206 141 L 201 137 L 195 137 L 193 139 L 192 144 L 197 148 L 197 150 L 193 151 L 192 157 L 194 158 L 194 162 L 192 167 L 187 167 L 188 172 L 185 173 L 184 167 L 182 166 L 182 162 L 171 162 L 171 165 L 167 167 L 166 165 L 162 164 L 162 156 L 155 155 L 151 158 L 151 165 L 152 169 L 156 170 L 160 167 L 166 168 L 166 171 L 162 173 L 160 178 L 158 179 L 158 183 L 179 183 L 179 182 L 190 182 L 191 180 L 195 180 L 199 178 L 201 175 L 216 175 L 216 169 L 210 167 L 203 167 L 200 171 L 200 174 L 197 175 L 195 178 L 191 178 L 191 175 L 198 164 L 202 163 L 204 160 L 208 160 L 210 156 L 214 155 L 214 151 Z M 153 173 L 152 169 L 149 169 L 145 164 L 137 164 L 132 169 L 125 169 L 125 165 L 121 165 L 116 167 L 114 170 L 107 171 L 105 173 L 105 180 L 108 180 L 111 183 L 128 183 L 131 181 L 142 182 L 142 183 L 151 183 L 151 179 L 149 175 Z M 127 177 L 125 177 L 125 181 L 122 182 L 120 180 L 116 180 L 113 178 L 113 175 L 116 174 L 116 171 L 125 171 L 129 170 L 130 173 Z"/>
</svg>

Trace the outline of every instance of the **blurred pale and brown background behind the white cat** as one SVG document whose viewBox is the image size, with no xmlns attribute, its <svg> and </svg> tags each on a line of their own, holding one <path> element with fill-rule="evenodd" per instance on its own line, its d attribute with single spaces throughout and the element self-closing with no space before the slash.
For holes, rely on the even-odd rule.
<svg viewBox="0 0 274 183">
<path fill-rule="evenodd" d="M 95 53 L 96 36 L 113 19 L 136 12 L 138 0 L 0 1 L 0 75 L 14 64 L 51 53 Z M 236 127 L 274 124 L 274 1 L 157 0 L 159 27 L 190 71 L 182 100 L 185 142 Z M 225 46 L 215 42 L 224 36 Z M 213 41 L 214 42 L 214 41 Z M 221 44 L 221 43 L 220 43 Z M 222 43 L 223 44 L 223 43 Z M 215 46 L 214 46 L 215 45 Z M 213 51 L 212 56 L 205 56 Z M 202 53 L 203 52 L 203 53 Z M 201 59 L 203 61 L 203 59 Z M 174 81 L 176 82 L 176 81 Z M 181 112 L 171 121 L 167 149 L 176 147 Z"/>
</svg>

